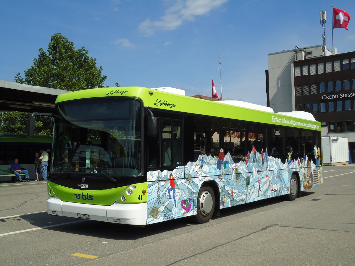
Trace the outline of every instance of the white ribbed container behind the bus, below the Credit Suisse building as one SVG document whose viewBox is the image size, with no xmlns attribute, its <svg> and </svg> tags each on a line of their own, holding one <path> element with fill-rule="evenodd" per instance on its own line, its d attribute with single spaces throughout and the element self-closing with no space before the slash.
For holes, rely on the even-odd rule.
<svg viewBox="0 0 355 266">
<path fill-rule="evenodd" d="M 349 164 L 349 143 L 347 138 L 322 137 L 323 165 Z"/>
</svg>

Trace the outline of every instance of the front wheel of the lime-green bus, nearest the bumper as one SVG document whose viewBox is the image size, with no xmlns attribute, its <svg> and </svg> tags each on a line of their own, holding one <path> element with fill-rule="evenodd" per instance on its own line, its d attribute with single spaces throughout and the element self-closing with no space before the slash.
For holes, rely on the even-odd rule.
<svg viewBox="0 0 355 266">
<path fill-rule="evenodd" d="M 198 223 L 207 223 L 214 212 L 215 200 L 213 189 L 209 186 L 202 187 L 197 198 L 196 221 Z"/>
</svg>

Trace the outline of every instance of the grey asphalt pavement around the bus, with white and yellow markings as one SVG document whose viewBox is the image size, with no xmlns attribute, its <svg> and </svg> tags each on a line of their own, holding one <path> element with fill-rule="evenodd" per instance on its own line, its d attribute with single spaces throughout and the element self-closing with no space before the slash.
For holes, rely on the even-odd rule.
<svg viewBox="0 0 355 266">
<path fill-rule="evenodd" d="M 354 265 L 355 164 L 323 184 L 146 227 L 47 214 L 44 181 L 0 183 L 0 265 Z"/>
</svg>

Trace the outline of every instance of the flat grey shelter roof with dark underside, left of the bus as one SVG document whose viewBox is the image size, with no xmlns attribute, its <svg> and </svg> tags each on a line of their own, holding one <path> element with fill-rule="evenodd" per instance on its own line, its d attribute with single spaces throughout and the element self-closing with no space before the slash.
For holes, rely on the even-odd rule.
<svg viewBox="0 0 355 266">
<path fill-rule="evenodd" d="M 0 80 L 0 111 L 54 112 L 54 102 L 67 90 Z"/>
</svg>

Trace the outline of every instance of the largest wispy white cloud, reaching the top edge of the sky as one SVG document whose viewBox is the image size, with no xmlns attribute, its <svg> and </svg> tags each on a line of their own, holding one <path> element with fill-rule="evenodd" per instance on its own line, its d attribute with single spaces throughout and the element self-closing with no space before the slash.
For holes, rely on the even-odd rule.
<svg viewBox="0 0 355 266">
<path fill-rule="evenodd" d="M 197 16 L 208 14 L 211 10 L 224 4 L 228 0 L 179 0 L 176 4 L 165 11 L 160 20 L 151 21 L 147 18 L 138 30 L 145 36 L 153 35 L 155 31 L 172 31 L 185 21 L 194 21 Z"/>
</svg>

